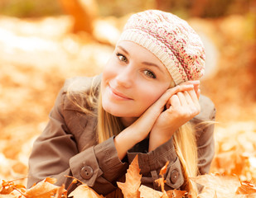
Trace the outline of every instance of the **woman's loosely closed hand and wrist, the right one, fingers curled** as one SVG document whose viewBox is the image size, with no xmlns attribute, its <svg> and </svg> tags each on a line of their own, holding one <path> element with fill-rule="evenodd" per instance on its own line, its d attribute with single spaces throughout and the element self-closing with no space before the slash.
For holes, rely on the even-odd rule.
<svg viewBox="0 0 256 198">
<path fill-rule="evenodd" d="M 149 139 L 149 151 L 157 148 L 171 139 L 172 134 L 181 125 L 191 120 L 200 113 L 198 97 L 200 95 L 199 84 L 196 89 L 185 92 L 177 92 L 167 102 L 167 110 L 158 116 L 152 127 Z"/>
</svg>

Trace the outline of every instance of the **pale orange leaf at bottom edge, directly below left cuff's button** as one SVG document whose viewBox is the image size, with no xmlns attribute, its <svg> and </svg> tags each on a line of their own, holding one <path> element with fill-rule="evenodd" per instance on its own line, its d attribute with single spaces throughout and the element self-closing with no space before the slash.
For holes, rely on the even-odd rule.
<svg viewBox="0 0 256 198">
<path fill-rule="evenodd" d="M 69 195 L 73 198 L 104 198 L 104 196 L 99 196 L 92 188 L 86 184 L 82 184 L 75 188 L 75 191 L 72 191 Z"/>
</svg>

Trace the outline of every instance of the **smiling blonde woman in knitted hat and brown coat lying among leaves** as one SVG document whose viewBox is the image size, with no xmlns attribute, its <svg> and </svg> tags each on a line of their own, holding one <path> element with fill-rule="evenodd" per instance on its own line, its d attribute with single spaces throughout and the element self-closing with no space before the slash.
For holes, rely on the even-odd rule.
<svg viewBox="0 0 256 198">
<path fill-rule="evenodd" d="M 138 154 L 142 184 L 169 161 L 166 188 L 195 188 L 188 177 L 209 172 L 215 107 L 200 96 L 205 50 L 186 21 L 149 10 L 134 14 L 102 75 L 65 82 L 36 139 L 28 186 L 45 177 L 70 186 L 73 176 L 104 196 L 116 189 Z M 72 184 L 70 191 L 74 190 Z"/>
</svg>

